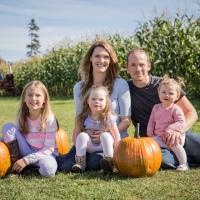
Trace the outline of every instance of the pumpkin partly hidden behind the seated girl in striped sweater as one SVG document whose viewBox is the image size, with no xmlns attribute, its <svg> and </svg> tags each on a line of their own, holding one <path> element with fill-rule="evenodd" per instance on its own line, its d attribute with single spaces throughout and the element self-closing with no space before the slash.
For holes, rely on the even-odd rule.
<svg viewBox="0 0 200 200">
<path fill-rule="evenodd" d="M 62 128 L 59 128 L 56 132 L 56 147 L 61 155 L 66 154 L 69 150 L 67 133 Z"/>
</svg>

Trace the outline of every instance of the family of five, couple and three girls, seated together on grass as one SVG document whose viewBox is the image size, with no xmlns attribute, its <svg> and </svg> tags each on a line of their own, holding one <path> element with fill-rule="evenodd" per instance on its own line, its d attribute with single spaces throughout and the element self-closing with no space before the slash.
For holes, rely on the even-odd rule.
<svg viewBox="0 0 200 200">
<path fill-rule="evenodd" d="M 160 145 L 163 169 L 200 166 L 200 135 L 189 131 L 197 121 L 195 108 L 178 80 L 150 74 L 147 52 L 137 48 L 126 59 L 130 80 L 119 76 L 119 64 L 107 41 L 96 41 L 80 64 L 81 81 L 74 86 L 73 146 L 66 155 L 56 150 L 58 123 L 47 88 L 31 81 L 23 89 L 16 124 L 3 126 L 1 140 L 11 155 L 9 173 L 35 166 L 41 176 L 57 171 L 102 169 L 112 173 L 113 152 L 127 137 L 130 123 L 140 124 L 142 137 Z"/>
</svg>

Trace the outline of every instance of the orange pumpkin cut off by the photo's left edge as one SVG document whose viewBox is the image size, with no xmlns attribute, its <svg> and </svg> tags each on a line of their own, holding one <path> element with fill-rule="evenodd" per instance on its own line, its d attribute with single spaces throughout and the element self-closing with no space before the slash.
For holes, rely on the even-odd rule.
<svg viewBox="0 0 200 200">
<path fill-rule="evenodd" d="M 4 177 L 11 165 L 8 147 L 0 142 L 0 177 Z"/>
</svg>

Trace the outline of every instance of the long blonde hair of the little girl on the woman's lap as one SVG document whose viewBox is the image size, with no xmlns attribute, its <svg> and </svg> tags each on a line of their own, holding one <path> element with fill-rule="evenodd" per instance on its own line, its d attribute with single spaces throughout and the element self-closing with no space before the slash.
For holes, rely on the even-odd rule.
<svg viewBox="0 0 200 200">
<path fill-rule="evenodd" d="M 90 107 L 88 105 L 88 99 L 92 92 L 97 90 L 103 90 L 106 95 L 106 106 L 101 113 L 100 121 L 103 121 L 105 124 L 105 127 L 107 127 L 107 118 L 110 113 L 110 97 L 107 87 L 105 86 L 92 86 L 86 93 L 86 95 L 83 98 L 83 109 L 82 112 L 78 115 L 78 121 L 80 123 L 81 130 L 84 129 L 84 121 L 88 117 L 88 115 L 91 113 Z"/>
</svg>

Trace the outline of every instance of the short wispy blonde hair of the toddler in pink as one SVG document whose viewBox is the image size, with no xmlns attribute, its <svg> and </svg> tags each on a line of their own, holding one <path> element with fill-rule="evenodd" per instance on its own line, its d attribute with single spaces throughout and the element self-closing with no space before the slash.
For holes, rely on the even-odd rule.
<svg viewBox="0 0 200 200">
<path fill-rule="evenodd" d="M 181 92 L 182 92 L 182 85 L 184 85 L 184 83 L 183 83 L 183 79 L 180 77 L 173 79 L 173 78 L 170 78 L 167 74 L 165 74 L 159 83 L 158 91 L 163 85 L 167 87 L 169 86 L 175 87 L 177 91 L 177 96 L 180 97 Z"/>
</svg>

